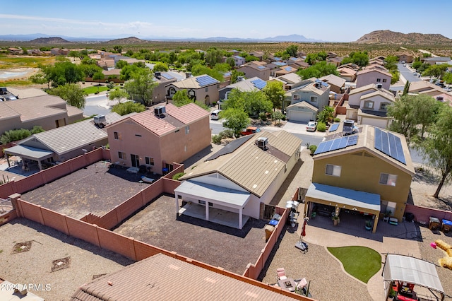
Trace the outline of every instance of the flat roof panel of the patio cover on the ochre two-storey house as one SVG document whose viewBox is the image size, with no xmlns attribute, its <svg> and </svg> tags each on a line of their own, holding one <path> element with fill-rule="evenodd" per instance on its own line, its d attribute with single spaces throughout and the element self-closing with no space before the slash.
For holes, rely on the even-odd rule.
<svg viewBox="0 0 452 301">
<path fill-rule="evenodd" d="M 380 195 L 364 191 L 345 189 L 325 184 L 312 183 L 306 193 L 307 201 L 329 202 L 346 205 L 357 211 L 378 214 L 380 212 Z"/>
</svg>

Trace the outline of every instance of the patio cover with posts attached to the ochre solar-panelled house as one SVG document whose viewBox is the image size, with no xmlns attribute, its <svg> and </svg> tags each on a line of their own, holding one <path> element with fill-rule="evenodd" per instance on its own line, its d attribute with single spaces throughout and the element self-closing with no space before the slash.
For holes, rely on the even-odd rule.
<svg viewBox="0 0 452 301">
<path fill-rule="evenodd" d="M 304 196 L 304 201 L 304 212 L 307 213 L 307 216 L 311 216 L 314 203 L 335 207 L 336 216 L 339 215 L 340 209 L 373 214 L 376 218 L 374 219 L 372 233 L 376 232 L 381 210 L 379 194 L 311 183 L 306 196 Z"/>
</svg>

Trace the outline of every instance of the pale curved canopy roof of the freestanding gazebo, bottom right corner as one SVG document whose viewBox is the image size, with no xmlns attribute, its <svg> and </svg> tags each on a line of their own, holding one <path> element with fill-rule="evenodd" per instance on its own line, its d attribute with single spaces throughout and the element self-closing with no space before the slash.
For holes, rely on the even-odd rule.
<svg viewBox="0 0 452 301">
<path fill-rule="evenodd" d="M 444 295 L 434 264 L 410 256 L 388 254 L 383 267 L 383 280 L 414 283 Z"/>
</svg>

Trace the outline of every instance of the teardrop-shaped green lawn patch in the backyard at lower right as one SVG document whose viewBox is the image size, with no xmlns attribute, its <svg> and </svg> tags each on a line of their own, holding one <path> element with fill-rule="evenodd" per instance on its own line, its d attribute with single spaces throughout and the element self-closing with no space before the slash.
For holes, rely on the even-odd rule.
<svg viewBox="0 0 452 301">
<path fill-rule="evenodd" d="M 345 271 L 360 281 L 367 283 L 381 268 L 381 255 L 368 247 L 350 246 L 328 248 L 340 262 Z"/>
</svg>

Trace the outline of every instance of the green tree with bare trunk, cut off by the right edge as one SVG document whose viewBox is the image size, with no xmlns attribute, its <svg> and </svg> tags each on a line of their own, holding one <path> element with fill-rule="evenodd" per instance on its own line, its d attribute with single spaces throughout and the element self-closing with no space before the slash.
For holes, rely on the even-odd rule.
<svg viewBox="0 0 452 301">
<path fill-rule="evenodd" d="M 420 143 L 420 150 L 429 163 L 441 172 L 441 180 L 434 193 L 438 199 L 444 183 L 450 181 L 452 172 L 452 107 L 441 106 L 437 122 L 429 129 L 429 134 Z"/>
</svg>

